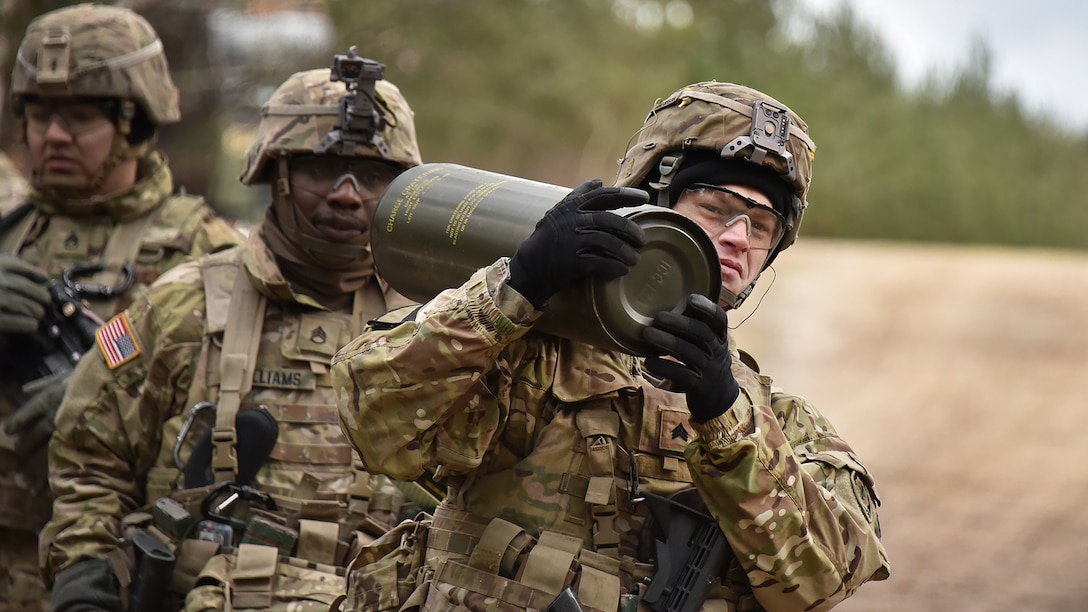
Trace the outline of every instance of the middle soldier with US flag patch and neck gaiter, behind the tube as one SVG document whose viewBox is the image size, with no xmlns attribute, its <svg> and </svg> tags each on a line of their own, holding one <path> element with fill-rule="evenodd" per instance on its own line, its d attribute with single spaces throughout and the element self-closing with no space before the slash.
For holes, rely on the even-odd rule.
<svg viewBox="0 0 1088 612">
<path fill-rule="evenodd" d="M 381 70 L 299 72 L 261 108 L 242 182 L 272 201 L 247 242 L 159 279 L 81 362 L 50 449 L 55 607 L 326 609 L 351 546 L 399 517 L 341 431 L 329 363 L 408 303 L 376 274 L 371 222 L 421 161 L 384 66 L 337 58 Z M 173 558 L 153 572 L 131 544 L 148 534 Z"/>
</svg>

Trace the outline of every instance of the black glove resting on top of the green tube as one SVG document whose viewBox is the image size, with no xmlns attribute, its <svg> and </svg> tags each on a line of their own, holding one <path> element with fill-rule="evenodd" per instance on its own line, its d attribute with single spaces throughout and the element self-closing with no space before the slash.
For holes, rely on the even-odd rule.
<svg viewBox="0 0 1088 612">
<path fill-rule="evenodd" d="M 586 277 L 622 277 L 639 261 L 646 233 L 634 221 L 609 212 L 646 204 L 630 187 L 586 181 L 547 211 L 510 258 L 509 285 L 537 309 L 562 287 Z"/>
</svg>

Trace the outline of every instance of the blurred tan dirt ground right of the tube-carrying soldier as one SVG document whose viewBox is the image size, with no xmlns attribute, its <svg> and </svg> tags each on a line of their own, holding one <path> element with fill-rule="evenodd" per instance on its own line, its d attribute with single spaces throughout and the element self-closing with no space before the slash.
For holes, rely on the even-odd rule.
<svg viewBox="0 0 1088 612">
<path fill-rule="evenodd" d="M 883 501 L 891 578 L 839 610 L 1088 610 L 1088 255 L 803 238 L 775 268 L 738 338 Z"/>
</svg>

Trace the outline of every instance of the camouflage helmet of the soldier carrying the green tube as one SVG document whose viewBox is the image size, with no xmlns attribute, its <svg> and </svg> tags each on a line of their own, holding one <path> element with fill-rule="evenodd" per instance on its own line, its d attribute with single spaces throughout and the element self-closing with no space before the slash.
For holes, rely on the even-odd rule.
<svg viewBox="0 0 1088 612">
<path fill-rule="evenodd" d="M 786 219 L 786 234 L 768 254 L 766 267 L 798 237 L 815 150 L 808 126 L 786 105 L 750 87 L 708 81 L 689 85 L 654 106 L 634 146 L 620 160 L 616 184 L 657 192 L 657 204 L 669 207 L 675 204 L 669 183 L 683 167 L 684 156 L 713 151 L 722 159 L 769 168 L 789 185 L 793 197 L 789 210 L 779 210 Z"/>
</svg>

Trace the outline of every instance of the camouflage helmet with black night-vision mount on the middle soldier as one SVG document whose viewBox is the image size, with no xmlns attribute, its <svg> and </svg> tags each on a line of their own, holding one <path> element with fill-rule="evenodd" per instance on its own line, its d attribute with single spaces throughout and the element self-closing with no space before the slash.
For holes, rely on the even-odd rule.
<svg viewBox="0 0 1088 612">
<path fill-rule="evenodd" d="M 270 182 L 273 160 L 322 150 L 319 144 L 337 128 L 339 101 L 347 93 L 344 83 L 331 81 L 329 69 L 296 73 L 261 107 L 261 122 L 240 176 L 244 184 Z M 378 136 L 385 146 L 357 146 L 354 155 L 391 161 L 403 170 L 419 166 L 422 159 L 416 142 L 415 113 L 408 101 L 388 81 L 378 81 L 374 87 L 385 115 Z M 332 152 L 341 150 L 333 148 Z"/>
</svg>

